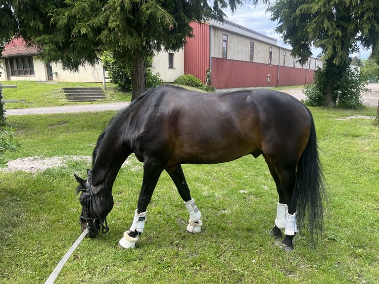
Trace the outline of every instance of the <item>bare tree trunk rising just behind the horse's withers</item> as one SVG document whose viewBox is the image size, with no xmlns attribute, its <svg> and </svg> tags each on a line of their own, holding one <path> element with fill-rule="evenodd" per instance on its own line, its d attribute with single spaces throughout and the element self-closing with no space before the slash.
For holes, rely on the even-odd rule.
<svg viewBox="0 0 379 284">
<path fill-rule="evenodd" d="M 146 91 L 145 60 L 137 49 L 134 50 L 133 54 L 134 64 L 132 66 L 132 101 Z"/>
</svg>

